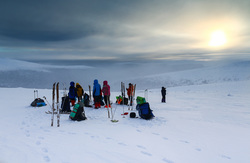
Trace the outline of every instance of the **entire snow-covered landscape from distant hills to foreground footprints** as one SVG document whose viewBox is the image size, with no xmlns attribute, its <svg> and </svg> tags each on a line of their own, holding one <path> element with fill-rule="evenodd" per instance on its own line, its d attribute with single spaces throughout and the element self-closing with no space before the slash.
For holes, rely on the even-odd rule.
<svg viewBox="0 0 250 163">
<path fill-rule="evenodd" d="M 0 59 L 0 63 L 0 163 L 250 162 L 249 61 L 216 66 L 191 63 L 183 67 L 185 62 L 170 62 L 169 67 L 165 62 L 148 67 L 148 63 L 129 63 L 132 67 L 125 64 L 119 70 L 117 65 L 123 63 L 109 68 L 101 63 L 93 67 L 10 59 Z M 171 67 L 173 70 L 168 71 Z M 128 72 L 134 76 L 123 80 Z M 57 79 L 62 97 L 65 83 L 74 80 L 86 87 L 96 77 L 100 77 L 100 83 L 107 77 L 111 81 L 112 101 L 120 95 L 117 91 L 121 81 L 126 85 L 136 83 L 136 96 L 144 96 L 148 88 L 155 118 L 123 118 L 123 108 L 131 111 L 113 104 L 118 123 L 110 121 L 104 108 L 85 107 L 86 121 L 74 122 L 62 114 L 61 126 L 51 127 L 51 115 L 45 111 L 50 110 L 52 91 L 44 88 L 51 88 Z M 167 103 L 160 102 L 162 86 L 167 86 Z M 43 88 L 38 89 L 39 97 L 47 97 L 47 106 L 30 106 L 34 88 Z"/>
</svg>

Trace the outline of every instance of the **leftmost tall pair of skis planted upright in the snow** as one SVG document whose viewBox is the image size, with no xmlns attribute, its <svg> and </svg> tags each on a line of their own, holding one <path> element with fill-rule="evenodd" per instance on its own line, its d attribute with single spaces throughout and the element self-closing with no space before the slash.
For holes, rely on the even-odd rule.
<svg viewBox="0 0 250 163">
<path fill-rule="evenodd" d="M 55 93 L 56 93 L 56 109 L 55 109 Z M 60 127 L 60 112 L 59 112 L 59 82 L 53 84 L 52 90 L 52 107 L 51 107 L 51 126 L 54 123 L 54 114 L 57 114 L 57 127 Z M 56 110 L 56 112 L 55 112 Z"/>
</svg>

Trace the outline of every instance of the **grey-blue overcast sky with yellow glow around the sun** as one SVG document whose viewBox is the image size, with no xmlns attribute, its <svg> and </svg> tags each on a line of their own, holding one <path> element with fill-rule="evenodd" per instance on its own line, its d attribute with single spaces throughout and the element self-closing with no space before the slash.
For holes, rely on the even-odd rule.
<svg viewBox="0 0 250 163">
<path fill-rule="evenodd" d="M 250 0 L 2 0 L 0 57 L 249 59 Z"/>
</svg>

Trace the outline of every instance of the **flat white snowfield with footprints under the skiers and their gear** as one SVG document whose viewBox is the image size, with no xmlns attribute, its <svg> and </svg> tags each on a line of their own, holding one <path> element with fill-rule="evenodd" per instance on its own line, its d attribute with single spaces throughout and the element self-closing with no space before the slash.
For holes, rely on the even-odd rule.
<svg viewBox="0 0 250 163">
<path fill-rule="evenodd" d="M 123 118 L 123 107 L 114 104 L 118 123 L 110 122 L 104 108 L 85 108 L 88 120 L 61 115 L 60 127 L 50 126 L 48 105 L 29 106 L 33 91 L 0 88 L 1 163 L 250 161 L 250 80 L 168 88 L 166 104 L 160 103 L 160 90 L 151 89 L 156 117 L 149 121 Z M 39 90 L 44 95 L 51 103 L 51 90 Z"/>
</svg>

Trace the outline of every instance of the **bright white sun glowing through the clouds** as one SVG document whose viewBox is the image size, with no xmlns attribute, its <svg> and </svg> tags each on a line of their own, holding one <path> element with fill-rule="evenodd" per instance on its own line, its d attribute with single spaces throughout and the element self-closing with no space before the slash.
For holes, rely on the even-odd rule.
<svg viewBox="0 0 250 163">
<path fill-rule="evenodd" d="M 212 32 L 209 45 L 210 46 L 222 46 L 226 44 L 226 42 L 227 42 L 227 38 L 226 38 L 225 32 L 222 30 L 217 30 L 217 31 Z"/>
</svg>

